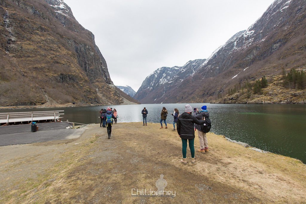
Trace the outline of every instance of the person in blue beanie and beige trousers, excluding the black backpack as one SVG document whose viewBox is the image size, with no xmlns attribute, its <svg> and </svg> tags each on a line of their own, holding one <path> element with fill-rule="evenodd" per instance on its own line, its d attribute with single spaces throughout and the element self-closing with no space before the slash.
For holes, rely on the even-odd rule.
<svg viewBox="0 0 306 204">
<path fill-rule="evenodd" d="M 205 118 L 209 117 L 209 113 L 207 112 L 207 106 L 202 106 L 201 110 L 193 113 L 193 115 L 199 120 L 205 120 Z M 198 130 L 198 136 L 200 141 L 200 150 L 198 152 L 208 152 L 208 140 L 206 137 L 206 133 L 202 131 L 201 125 L 195 124 L 194 127 Z"/>
</svg>

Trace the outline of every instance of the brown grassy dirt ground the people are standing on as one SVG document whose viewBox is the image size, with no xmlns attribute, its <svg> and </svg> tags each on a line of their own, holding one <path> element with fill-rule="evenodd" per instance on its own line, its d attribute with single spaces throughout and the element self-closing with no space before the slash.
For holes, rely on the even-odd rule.
<svg viewBox="0 0 306 204">
<path fill-rule="evenodd" d="M 151 123 L 114 124 L 111 139 L 95 124 L 79 139 L 0 147 L 0 203 L 306 203 L 300 161 L 213 133 L 208 142 L 195 164 L 187 148 L 187 165 L 177 132 Z M 132 196 L 156 191 L 161 174 L 172 196 Z"/>
</svg>

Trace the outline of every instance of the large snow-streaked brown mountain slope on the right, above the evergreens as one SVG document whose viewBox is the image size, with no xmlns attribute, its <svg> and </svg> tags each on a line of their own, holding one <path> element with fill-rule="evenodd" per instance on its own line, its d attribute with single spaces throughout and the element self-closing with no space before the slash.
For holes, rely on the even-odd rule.
<svg viewBox="0 0 306 204">
<path fill-rule="evenodd" d="M 211 102 L 226 97 L 229 88 L 246 80 L 277 76 L 282 68 L 305 69 L 305 5 L 306 0 L 275 0 L 246 31 L 215 50 L 194 74 L 169 85 L 156 102 Z M 149 89 L 146 92 L 155 95 Z M 138 97 L 141 102 L 142 98 Z"/>
</svg>

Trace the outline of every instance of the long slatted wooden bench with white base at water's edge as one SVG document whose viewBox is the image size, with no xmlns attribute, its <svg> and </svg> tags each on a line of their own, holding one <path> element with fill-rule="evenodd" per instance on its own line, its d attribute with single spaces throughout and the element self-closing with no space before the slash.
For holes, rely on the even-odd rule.
<svg viewBox="0 0 306 204">
<path fill-rule="evenodd" d="M 32 121 L 61 121 L 63 110 L 51 111 L 31 111 L 31 112 L 10 112 L 0 113 L 0 124 L 7 125 L 9 123 L 29 123 Z"/>
</svg>

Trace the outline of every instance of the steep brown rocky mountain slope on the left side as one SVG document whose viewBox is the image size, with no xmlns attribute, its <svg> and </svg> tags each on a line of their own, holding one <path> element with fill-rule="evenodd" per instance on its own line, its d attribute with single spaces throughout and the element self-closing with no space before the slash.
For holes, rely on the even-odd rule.
<svg viewBox="0 0 306 204">
<path fill-rule="evenodd" d="M 0 32 L 0 106 L 125 101 L 62 0 L 0 0 Z"/>
</svg>

